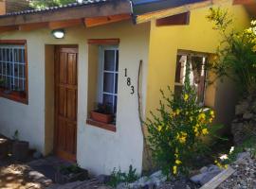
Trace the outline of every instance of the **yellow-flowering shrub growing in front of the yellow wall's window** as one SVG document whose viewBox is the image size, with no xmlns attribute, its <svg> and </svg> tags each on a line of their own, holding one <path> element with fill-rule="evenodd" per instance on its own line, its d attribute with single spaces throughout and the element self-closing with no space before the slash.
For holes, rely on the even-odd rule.
<svg viewBox="0 0 256 189">
<path fill-rule="evenodd" d="M 188 173 L 192 158 L 204 149 L 203 136 L 212 135 L 214 130 L 210 124 L 215 113 L 199 106 L 188 79 L 180 96 L 172 94 L 170 87 L 168 95 L 161 91 L 158 113 L 152 112 L 146 122 L 155 163 L 168 176 Z"/>
</svg>

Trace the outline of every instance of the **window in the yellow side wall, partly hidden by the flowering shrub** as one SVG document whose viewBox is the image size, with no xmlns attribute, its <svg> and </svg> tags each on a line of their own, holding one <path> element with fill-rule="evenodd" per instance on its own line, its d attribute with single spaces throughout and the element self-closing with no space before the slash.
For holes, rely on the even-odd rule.
<svg viewBox="0 0 256 189">
<path fill-rule="evenodd" d="M 191 56 L 191 59 L 189 59 Z M 175 89 L 174 94 L 179 95 L 184 85 L 186 75 L 187 62 L 191 60 L 190 64 L 190 81 L 197 92 L 198 102 L 203 106 L 205 99 L 205 81 L 206 81 L 206 69 L 205 65 L 208 61 L 208 56 L 201 53 L 187 53 L 178 52 L 176 60 L 176 72 L 175 72 Z"/>
</svg>

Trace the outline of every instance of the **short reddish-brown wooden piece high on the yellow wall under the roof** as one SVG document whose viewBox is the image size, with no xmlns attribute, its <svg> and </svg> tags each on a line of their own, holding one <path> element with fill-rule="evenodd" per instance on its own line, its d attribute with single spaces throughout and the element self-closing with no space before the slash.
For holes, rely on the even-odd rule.
<svg viewBox="0 0 256 189">
<path fill-rule="evenodd" d="M 190 24 L 190 11 L 176 14 L 174 16 L 168 16 L 166 18 L 160 18 L 156 20 L 156 26 L 181 26 Z"/>
</svg>

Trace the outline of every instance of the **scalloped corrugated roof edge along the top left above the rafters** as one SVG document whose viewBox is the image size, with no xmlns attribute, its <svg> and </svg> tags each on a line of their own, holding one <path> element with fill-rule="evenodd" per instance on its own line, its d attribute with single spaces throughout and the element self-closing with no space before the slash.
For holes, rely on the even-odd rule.
<svg viewBox="0 0 256 189">
<path fill-rule="evenodd" d="M 46 9 L 27 9 L 27 10 L 23 10 L 23 11 L 9 12 L 7 14 L 0 15 L 0 17 L 40 13 L 40 12 L 46 12 L 46 11 L 51 11 L 51 10 L 52 11 L 59 10 L 59 9 L 77 8 L 77 7 L 83 7 L 83 6 L 99 4 L 99 3 L 104 3 L 104 2 L 110 2 L 110 1 L 115 1 L 115 0 L 83 0 L 82 3 L 71 3 L 71 4 L 66 4 L 64 6 L 59 6 L 59 7 L 51 7 L 51 8 L 46 8 Z"/>
</svg>

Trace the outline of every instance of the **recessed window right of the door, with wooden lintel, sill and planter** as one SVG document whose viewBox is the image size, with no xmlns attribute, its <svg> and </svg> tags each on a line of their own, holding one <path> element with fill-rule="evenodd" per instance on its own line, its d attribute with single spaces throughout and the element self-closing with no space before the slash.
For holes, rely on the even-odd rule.
<svg viewBox="0 0 256 189">
<path fill-rule="evenodd" d="M 86 124 L 117 131 L 119 39 L 88 40 Z"/>
</svg>

